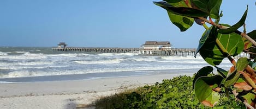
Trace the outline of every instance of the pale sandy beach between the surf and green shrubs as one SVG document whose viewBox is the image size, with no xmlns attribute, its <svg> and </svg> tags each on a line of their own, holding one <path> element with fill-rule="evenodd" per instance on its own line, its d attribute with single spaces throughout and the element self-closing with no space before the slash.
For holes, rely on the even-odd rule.
<svg viewBox="0 0 256 109">
<path fill-rule="evenodd" d="M 163 79 L 171 79 L 178 75 L 181 74 L 0 84 L 0 108 L 69 109 L 84 107 L 100 97 L 115 94 L 123 89 L 162 82 Z"/>
</svg>

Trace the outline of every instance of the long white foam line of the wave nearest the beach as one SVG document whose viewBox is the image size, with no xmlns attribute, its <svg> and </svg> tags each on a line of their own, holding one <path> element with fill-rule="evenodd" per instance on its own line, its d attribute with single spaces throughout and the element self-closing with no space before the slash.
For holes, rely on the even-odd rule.
<svg viewBox="0 0 256 109">
<path fill-rule="evenodd" d="M 138 70 L 171 70 L 171 69 L 195 69 L 202 66 L 176 66 L 176 67 L 127 67 L 127 68 L 102 68 L 102 69 L 80 69 L 80 70 L 62 70 L 57 72 L 44 72 L 38 70 L 17 70 L 7 74 L 0 73 L 0 78 L 20 78 L 29 76 L 51 76 L 51 75 L 70 75 L 70 74 L 88 74 L 88 73 L 105 73 L 105 72 L 134 72 Z"/>
</svg>

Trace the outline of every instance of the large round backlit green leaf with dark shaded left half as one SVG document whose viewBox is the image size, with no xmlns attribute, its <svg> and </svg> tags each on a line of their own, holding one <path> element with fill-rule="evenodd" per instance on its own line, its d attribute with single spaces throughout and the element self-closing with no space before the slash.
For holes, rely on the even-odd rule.
<svg viewBox="0 0 256 109">
<path fill-rule="evenodd" d="M 216 28 L 212 28 L 216 29 Z M 212 30 L 213 31 L 213 30 Z M 215 31 L 215 30 L 214 30 Z M 212 32 L 211 32 L 212 33 Z M 212 34 L 215 35 L 215 34 Z M 216 43 L 216 39 L 208 37 L 205 41 L 203 47 L 200 49 L 200 54 L 203 59 L 212 66 L 219 65 L 222 60 L 228 56 L 228 54 L 232 56 L 236 56 L 240 54 L 243 50 L 244 43 L 242 37 L 238 34 L 219 34 L 217 35 L 217 39 L 221 42 L 222 46 L 228 53 L 223 53 L 223 51 L 219 48 Z"/>
</svg>

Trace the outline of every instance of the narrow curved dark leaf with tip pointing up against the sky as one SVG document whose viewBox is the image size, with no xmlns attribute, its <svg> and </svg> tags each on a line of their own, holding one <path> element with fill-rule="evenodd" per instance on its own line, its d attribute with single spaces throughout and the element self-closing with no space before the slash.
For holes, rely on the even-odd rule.
<svg viewBox="0 0 256 109">
<path fill-rule="evenodd" d="M 245 20 L 246 20 L 246 16 L 247 16 L 247 11 L 248 11 L 248 5 L 247 5 L 247 9 L 246 9 L 245 13 L 243 14 L 243 16 L 239 20 L 239 22 L 237 22 L 236 24 L 234 24 L 233 26 L 231 26 L 228 29 L 219 29 L 218 33 L 230 34 L 230 33 L 233 33 L 234 31 L 236 31 L 238 28 L 240 28 L 243 24 L 245 24 Z"/>
</svg>

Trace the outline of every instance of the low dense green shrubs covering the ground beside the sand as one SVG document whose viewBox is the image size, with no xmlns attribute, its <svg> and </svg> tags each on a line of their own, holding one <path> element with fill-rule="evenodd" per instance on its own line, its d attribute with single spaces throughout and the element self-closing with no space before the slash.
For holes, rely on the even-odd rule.
<svg viewBox="0 0 256 109">
<path fill-rule="evenodd" d="M 111 95 L 96 101 L 96 108 L 204 108 L 195 98 L 193 79 L 186 75 L 178 76 L 163 80 L 160 84 Z M 235 99 L 233 95 L 230 98 Z M 221 95 L 219 105 L 215 108 L 245 108 L 242 105 Z"/>
</svg>

